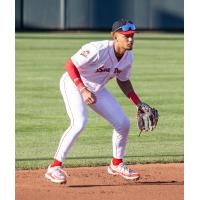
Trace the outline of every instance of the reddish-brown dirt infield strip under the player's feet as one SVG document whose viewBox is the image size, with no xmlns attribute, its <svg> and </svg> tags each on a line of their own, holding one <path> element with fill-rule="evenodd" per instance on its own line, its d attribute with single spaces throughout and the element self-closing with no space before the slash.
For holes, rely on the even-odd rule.
<svg viewBox="0 0 200 200">
<path fill-rule="evenodd" d="M 141 174 L 138 181 L 107 173 L 107 167 L 65 169 L 67 184 L 54 184 L 46 170 L 16 170 L 16 200 L 183 200 L 184 164 L 129 166 Z"/>
</svg>

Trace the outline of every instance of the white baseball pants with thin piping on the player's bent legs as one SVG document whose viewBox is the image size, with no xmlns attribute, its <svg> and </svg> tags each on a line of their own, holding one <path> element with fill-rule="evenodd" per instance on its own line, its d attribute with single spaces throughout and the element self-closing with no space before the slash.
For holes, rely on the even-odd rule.
<svg viewBox="0 0 200 200">
<path fill-rule="evenodd" d="M 67 158 L 73 142 L 86 126 L 87 105 L 67 73 L 61 77 L 60 90 L 68 116 L 71 120 L 69 128 L 61 137 L 57 152 L 54 156 L 55 159 L 63 162 Z M 113 157 L 123 159 L 130 129 L 129 119 L 107 89 L 102 88 L 95 95 L 97 102 L 90 105 L 90 107 L 112 124 L 114 128 L 112 137 Z"/>
</svg>

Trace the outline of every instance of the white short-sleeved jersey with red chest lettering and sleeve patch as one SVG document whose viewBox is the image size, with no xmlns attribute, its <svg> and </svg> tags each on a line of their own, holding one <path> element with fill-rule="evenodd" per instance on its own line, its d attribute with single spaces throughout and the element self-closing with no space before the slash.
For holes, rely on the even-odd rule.
<svg viewBox="0 0 200 200">
<path fill-rule="evenodd" d="M 132 51 L 125 51 L 118 61 L 113 41 L 104 40 L 82 46 L 71 60 L 77 67 L 84 85 L 91 92 L 97 92 L 113 77 L 121 81 L 129 80 L 133 55 Z"/>
</svg>

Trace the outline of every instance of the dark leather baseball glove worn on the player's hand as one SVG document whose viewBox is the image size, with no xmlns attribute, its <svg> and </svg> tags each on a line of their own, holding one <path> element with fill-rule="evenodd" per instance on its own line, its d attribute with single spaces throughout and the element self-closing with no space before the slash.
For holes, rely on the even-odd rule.
<svg viewBox="0 0 200 200">
<path fill-rule="evenodd" d="M 149 132 L 156 128 L 159 114 L 155 108 L 146 103 L 141 103 L 137 109 L 137 126 L 139 136 L 142 132 Z"/>
</svg>

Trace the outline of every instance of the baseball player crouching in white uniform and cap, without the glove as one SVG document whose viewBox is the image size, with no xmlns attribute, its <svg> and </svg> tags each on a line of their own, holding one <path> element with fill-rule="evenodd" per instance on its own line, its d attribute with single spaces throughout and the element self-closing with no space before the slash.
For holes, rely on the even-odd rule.
<svg viewBox="0 0 200 200">
<path fill-rule="evenodd" d="M 119 103 L 104 87 L 116 78 L 123 93 L 139 106 L 141 100 L 130 82 L 134 59 L 132 47 L 137 32 L 133 22 L 121 19 L 112 26 L 113 40 L 88 43 L 65 64 L 66 72 L 60 80 L 60 90 L 67 114 L 71 120 L 63 133 L 54 162 L 48 167 L 45 177 L 55 183 L 66 182 L 67 175 L 62 164 L 77 136 L 87 124 L 87 106 L 105 118 L 113 126 L 113 158 L 108 173 L 126 179 L 138 179 L 140 174 L 129 169 L 123 162 L 130 122 Z"/>
</svg>

